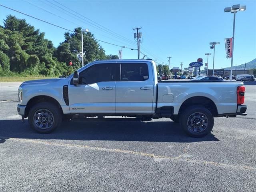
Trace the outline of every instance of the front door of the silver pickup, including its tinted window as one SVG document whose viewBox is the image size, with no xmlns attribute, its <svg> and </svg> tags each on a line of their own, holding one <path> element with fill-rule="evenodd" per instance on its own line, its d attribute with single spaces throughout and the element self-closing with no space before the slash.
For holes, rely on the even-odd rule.
<svg viewBox="0 0 256 192">
<path fill-rule="evenodd" d="M 114 114 L 116 65 L 94 64 L 79 74 L 80 82 L 68 86 L 72 114 Z"/>
</svg>

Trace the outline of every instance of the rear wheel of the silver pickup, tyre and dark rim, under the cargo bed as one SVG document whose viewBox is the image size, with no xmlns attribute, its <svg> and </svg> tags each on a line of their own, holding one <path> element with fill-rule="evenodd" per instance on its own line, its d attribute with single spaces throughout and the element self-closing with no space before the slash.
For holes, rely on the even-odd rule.
<svg viewBox="0 0 256 192">
<path fill-rule="evenodd" d="M 191 106 L 180 117 L 183 130 L 192 137 L 203 137 L 209 134 L 214 125 L 212 113 L 200 106 Z"/>
</svg>

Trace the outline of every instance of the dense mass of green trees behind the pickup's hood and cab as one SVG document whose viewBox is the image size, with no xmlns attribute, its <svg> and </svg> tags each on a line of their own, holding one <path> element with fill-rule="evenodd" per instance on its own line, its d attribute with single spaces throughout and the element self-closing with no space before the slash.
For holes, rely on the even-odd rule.
<svg viewBox="0 0 256 192">
<path fill-rule="evenodd" d="M 81 28 L 74 33 L 64 33 L 64 42 L 55 48 L 52 41 L 26 22 L 8 15 L 0 26 L 0 71 L 1 75 L 44 75 L 70 74 L 82 66 L 78 59 L 81 50 Z M 104 48 L 90 32 L 83 32 L 84 64 L 96 59 L 118 59 L 116 55 L 106 56 Z M 69 66 L 72 61 L 73 65 Z M 7 72 L 8 71 L 8 72 Z"/>
</svg>

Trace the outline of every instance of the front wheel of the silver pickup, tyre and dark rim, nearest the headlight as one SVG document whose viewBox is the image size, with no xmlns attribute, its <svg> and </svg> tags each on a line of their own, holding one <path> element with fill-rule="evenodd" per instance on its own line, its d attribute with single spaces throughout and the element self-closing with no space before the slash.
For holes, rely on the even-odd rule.
<svg viewBox="0 0 256 192">
<path fill-rule="evenodd" d="M 62 121 L 60 109 L 48 102 L 38 103 L 28 113 L 28 122 L 31 128 L 40 133 L 54 131 Z"/>
</svg>

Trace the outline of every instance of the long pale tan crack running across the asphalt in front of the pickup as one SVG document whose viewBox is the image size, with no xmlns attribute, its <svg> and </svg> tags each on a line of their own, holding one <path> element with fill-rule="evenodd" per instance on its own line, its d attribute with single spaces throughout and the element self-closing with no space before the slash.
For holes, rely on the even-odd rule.
<svg viewBox="0 0 256 192">
<path fill-rule="evenodd" d="M 1 139 L 7 139 L 7 138 L 1 138 Z M 224 164 L 224 163 L 213 162 L 213 161 L 204 161 L 204 160 L 192 160 L 192 159 L 188 159 L 188 158 L 182 158 L 182 156 L 170 157 L 170 156 L 155 155 L 155 154 L 151 154 L 151 153 L 136 152 L 136 151 L 130 151 L 130 150 L 91 147 L 91 146 L 88 146 L 88 145 L 54 143 L 54 142 L 48 142 L 48 141 L 42 141 L 42 140 L 30 140 L 30 139 L 18 139 L 18 138 L 9 138 L 8 140 L 12 140 L 12 141 L 16 141 L 16 142 L 44 144 L 44 145 L 51 145 L 51 146 L 74 147 L 74 148 L 84 148 L 84 149 L 88 149 L 88 150 L 116 152 L 116 153 L 123 153 L 123 154 L 134 154 L 134 155 L 140 155 L 140 156 L 145 156 L 145 157 L 150 157 L 150 158 L 157 158 L 157 159 L 162 159 L 162 160 L 165 160 L 165 159 L 166 160 L 178 160 L 178 161 L 182 161 L 182 162 L 190 162 L 190 163 L 196 163 L 196 164 L 206 164 L 206 165 L 220 166 L 220 167 L 224 167 L 224 168 L 234 168 L 234 169 L 240 169 L 240 170 L 256 171 L 256 167 L 230 165 L 230 164 Z M 188 144 L 188 146 L 186 146 L 186 148 L 184 149 L 185 153 L 187 152 L 189 146 L 190 146 L 190 144 Z"/>
</svg>

